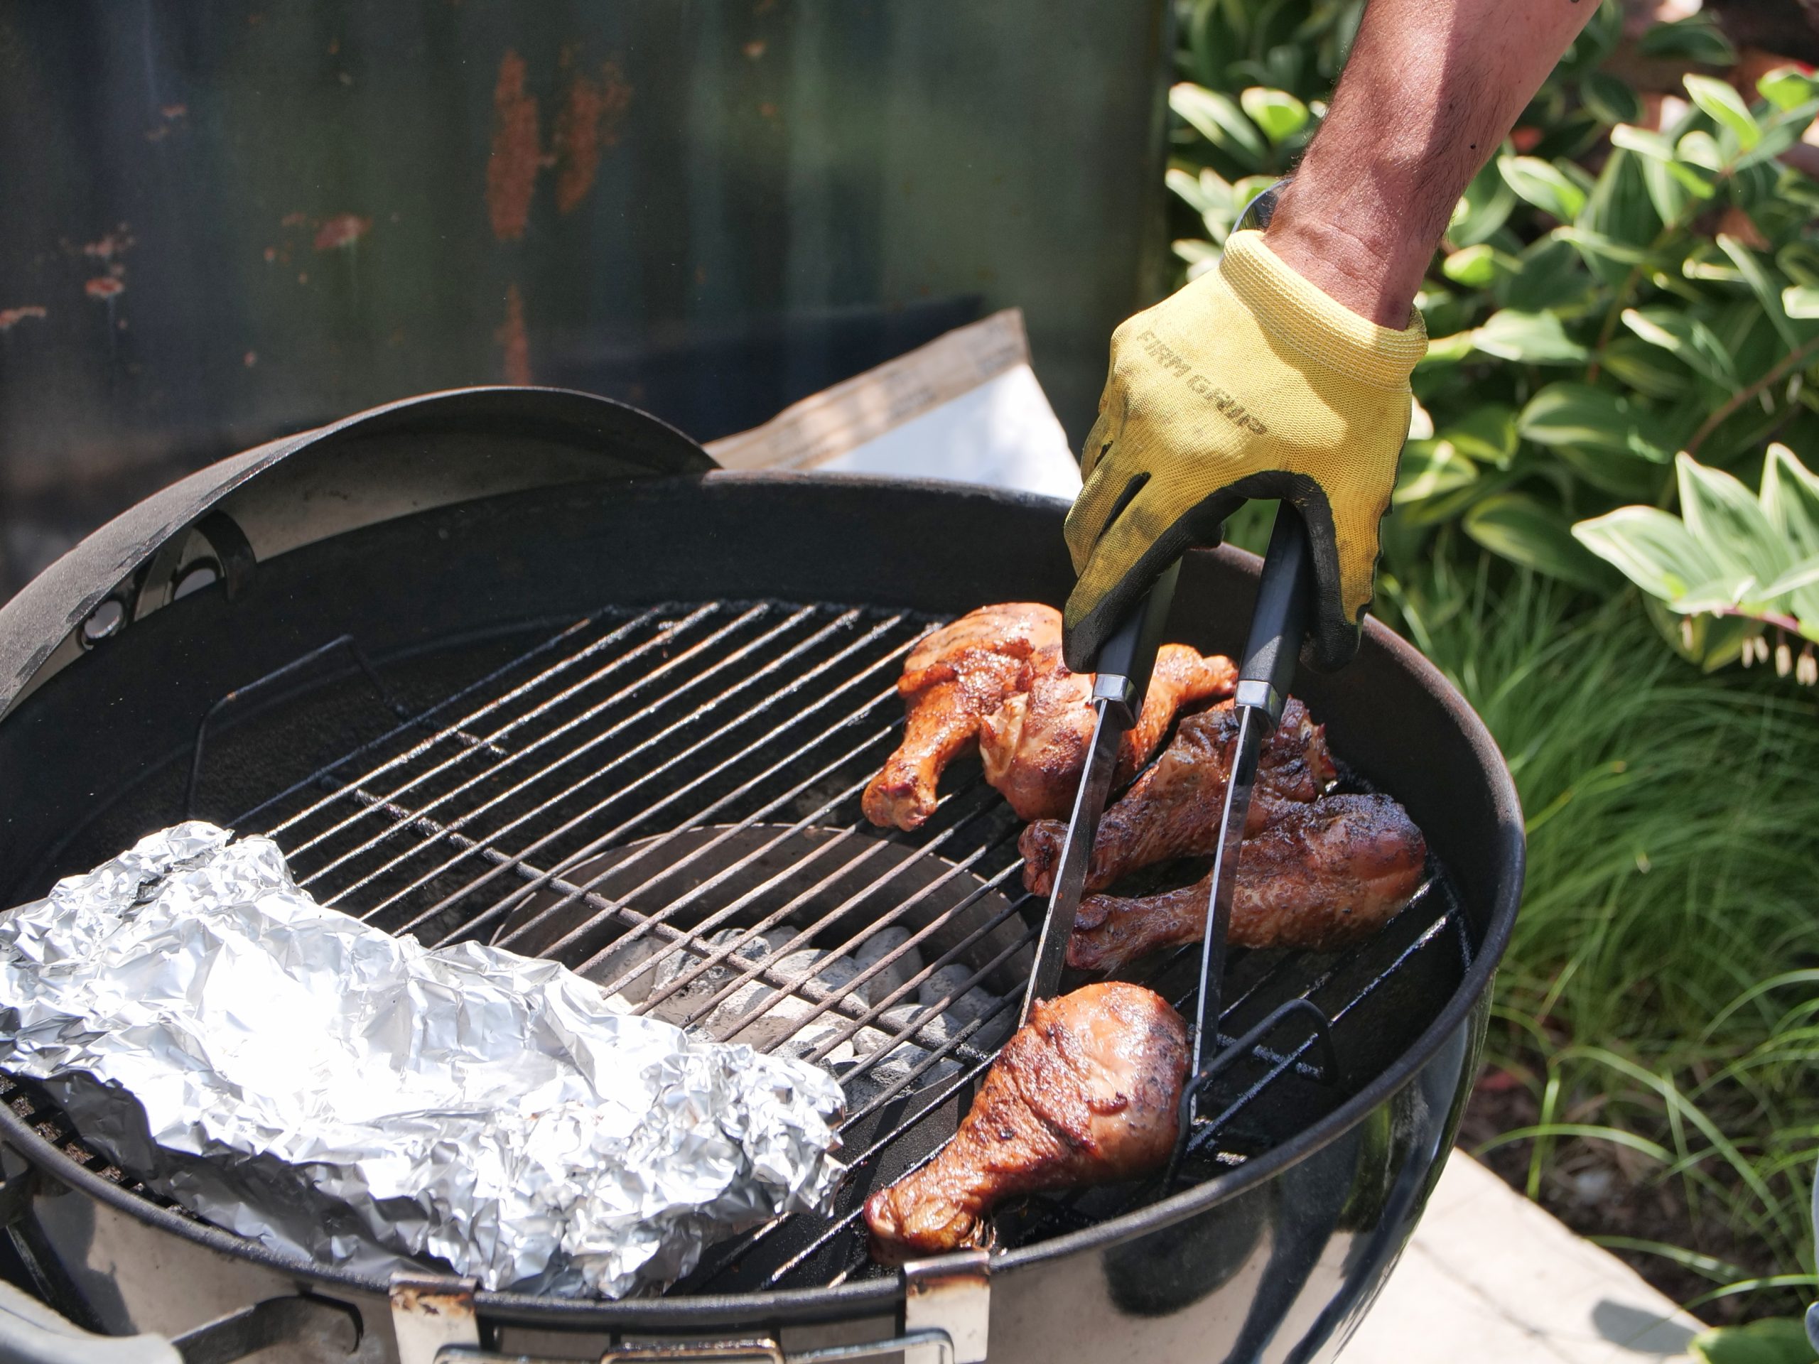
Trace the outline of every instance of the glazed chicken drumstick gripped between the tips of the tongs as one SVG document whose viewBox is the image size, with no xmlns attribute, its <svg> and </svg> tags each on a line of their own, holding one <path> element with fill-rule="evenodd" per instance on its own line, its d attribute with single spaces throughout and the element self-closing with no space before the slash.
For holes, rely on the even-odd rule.
<svg viewBox="0 0 1819 1364">
<path fill-rule="evenodd" d="M 1186 1024 L 1142 986 L 1039 1002 L 953 1140 L 866 1200 L 873 1257 L 895 1264 L 973 1246 L 1002 1199 L 1155 1169 L 1175 1146 L 1186 1071 Z"/>
</svg>

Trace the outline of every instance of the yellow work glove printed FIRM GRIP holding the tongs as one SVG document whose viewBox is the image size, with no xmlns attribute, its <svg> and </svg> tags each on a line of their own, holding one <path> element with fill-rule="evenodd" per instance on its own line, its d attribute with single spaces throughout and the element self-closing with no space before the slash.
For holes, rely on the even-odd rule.
<svg viewBox="0 0 1819 1364">
<path fill-rule="evenodd" d="M 1068 666 L 1086 671 L 1157 573 L 1219 544 L 1246 498 L 1286 498 L 1313 546 L 1310 646 L 1322 667 L 1355 651 L 1408 435 L 1421 315 L 1379 327 L 1291 271 L 1262 233 L 1233 233 L 1208 271 L 1111 333 L 1111 375 L 1086 436 L 1086 487 L 1068 513 L 1080 575 Z"/>
</svg>

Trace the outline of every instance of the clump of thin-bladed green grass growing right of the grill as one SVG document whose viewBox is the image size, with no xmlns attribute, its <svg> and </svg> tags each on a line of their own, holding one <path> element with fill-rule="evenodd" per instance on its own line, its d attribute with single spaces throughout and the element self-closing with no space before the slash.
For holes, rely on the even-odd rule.
<svg viewBox="0 0 1819 1364">
<path fill-rule="evenodd" d="M 1484 717 L 1526 815 L 1486 1044 L 1521 1102 L 1504 1093 L 1513 1120 L 1475 1149 L 1706 1320 L 1797 1311 L 1815 1282 L 1819 697 L 1703 677 L 1624 600 L 1586 611 L 1561 582 L 1464 562 L 1439 553 L 1384 595 Z M 1588 1178 L 1608 1191 L 1583 1202 Z M 1672 1224 L 1632 1226 L 1617 1197 Z"/>
</svg>

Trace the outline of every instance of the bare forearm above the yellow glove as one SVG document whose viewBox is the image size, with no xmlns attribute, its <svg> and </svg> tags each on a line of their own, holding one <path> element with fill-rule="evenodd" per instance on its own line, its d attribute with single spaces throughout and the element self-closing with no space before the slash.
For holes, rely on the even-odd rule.
<svg viewBox="0 0 1819 1364">
<path fill-rule="evenodd" d="M 1408 326 L 1459 195 L 1597 0 L 1372 0 L 1270 249 L 1384 327 Z"/>
</svg>

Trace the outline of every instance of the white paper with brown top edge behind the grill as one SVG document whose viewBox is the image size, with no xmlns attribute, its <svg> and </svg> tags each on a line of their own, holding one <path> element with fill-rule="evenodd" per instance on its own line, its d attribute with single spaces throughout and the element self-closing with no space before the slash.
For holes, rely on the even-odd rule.
<svg viewBox="0 0 1819 1364">
<path fill-rule="evenodd" d="M 802 398 L 708 451 L 729 469 L 948 478 L 1070 500 L 1080 489 L 1017 309 Z"/>
</svg>

